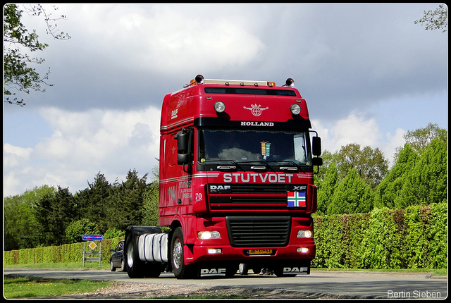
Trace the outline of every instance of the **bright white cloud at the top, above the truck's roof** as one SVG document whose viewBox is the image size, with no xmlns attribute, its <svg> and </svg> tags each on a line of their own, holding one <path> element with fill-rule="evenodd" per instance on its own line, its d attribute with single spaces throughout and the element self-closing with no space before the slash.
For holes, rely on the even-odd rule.
<svg viewBox="0 0 451 303">
<path fill-rule="evenodd" d="M 219 6 L 69 4 L 60 10 L 68 8 L 71 19 L 89 20 L 81 24 L 68 20 L 71 40 L 87 40 L 89 49 L 83 51 L 97 53 L 115 68 L 169 75 L 205 73 L 243 66 L 265 48 L 247 27 L 247 18 L 214 16 L 211 11 Z"/>
</svg>

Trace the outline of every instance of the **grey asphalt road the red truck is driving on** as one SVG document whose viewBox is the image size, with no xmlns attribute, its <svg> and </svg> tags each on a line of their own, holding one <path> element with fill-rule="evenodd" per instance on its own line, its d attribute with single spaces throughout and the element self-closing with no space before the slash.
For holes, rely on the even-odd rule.
<svg viewBox="0 0 451 303">
<path fill-rule="evenodd" d="M 4 276 L 36 276 L 44 278 L 78 278 L 117 280 L 127 283 L 155 283 L 174 285 L 205 285 L 206 287 L 257 287 L 311 294 L 340 295 L 359 298 L 445 299 L 447 277 L 434 277 L 426 273 L 376 273 L 311 271 L 310 275 L 295 277 L 258 276 L 249 274 L 233 278 L 202 276 L 194 280 L 178 280 L 173 273 L 161 273 L 159 278 L 130 279 L 127 273 L 107 270 L 44 270 L 6 269 Z"/>
</svg>

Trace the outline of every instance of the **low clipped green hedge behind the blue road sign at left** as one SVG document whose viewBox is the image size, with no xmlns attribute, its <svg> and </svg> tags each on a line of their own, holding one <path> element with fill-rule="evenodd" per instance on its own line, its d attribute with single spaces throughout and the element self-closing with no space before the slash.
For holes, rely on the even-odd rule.
<svg viewBox="0 0 451 303">
<path fill-rule="evenodd" d="M 105 239 L 101 241 L 102 259 L 101 264 L 109 264 L 111 256 L 110 249 L 116 247 L 119 240 L 123 238 Z M 86 250 L 89 243 L 86 242 Z M 99 245 L 99 243 L 96 243 Z M 99 248 L 97 248 L 99 249 Z M 58 263 L 58 262 L 82 262 L 83 242 L 65 244 L 61 246 L 37 247 L 28 249 L 11 250 L 4 252 L 4 264 L 35 264 L 35 263 Z"/>
</svg>

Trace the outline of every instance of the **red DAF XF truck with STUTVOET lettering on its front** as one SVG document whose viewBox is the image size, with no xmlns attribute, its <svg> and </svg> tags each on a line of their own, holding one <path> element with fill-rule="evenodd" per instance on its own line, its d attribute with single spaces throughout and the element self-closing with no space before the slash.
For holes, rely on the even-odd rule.
<svg viewBox="0 0 451 303">
<path fill-rule="evenodd" d="M 310 273 L 321 140 L 293 83 L 197 75 L 164 97 L 159 225 L 170 229 L 127 228 L 130 278 L 233 276 L 240 264 Z"/>
</svg>

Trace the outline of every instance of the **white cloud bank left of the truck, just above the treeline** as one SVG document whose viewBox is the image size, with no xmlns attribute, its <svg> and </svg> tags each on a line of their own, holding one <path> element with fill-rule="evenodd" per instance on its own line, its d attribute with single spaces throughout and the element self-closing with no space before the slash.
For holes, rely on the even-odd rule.
<svg viewBox="0 0 451 303">
<path fill-rule="evenodd" d="M 4 144 L 4 195 L 24 187 L 70 187 L 75 193 L 101 172 L 109 182 L 125 180 L 130 169 L 151 173 L 159 157 L 160 111 L 99 111 L 73 113 L 42 109 L 54 129 L 35 148 Z"/>
</svg>

